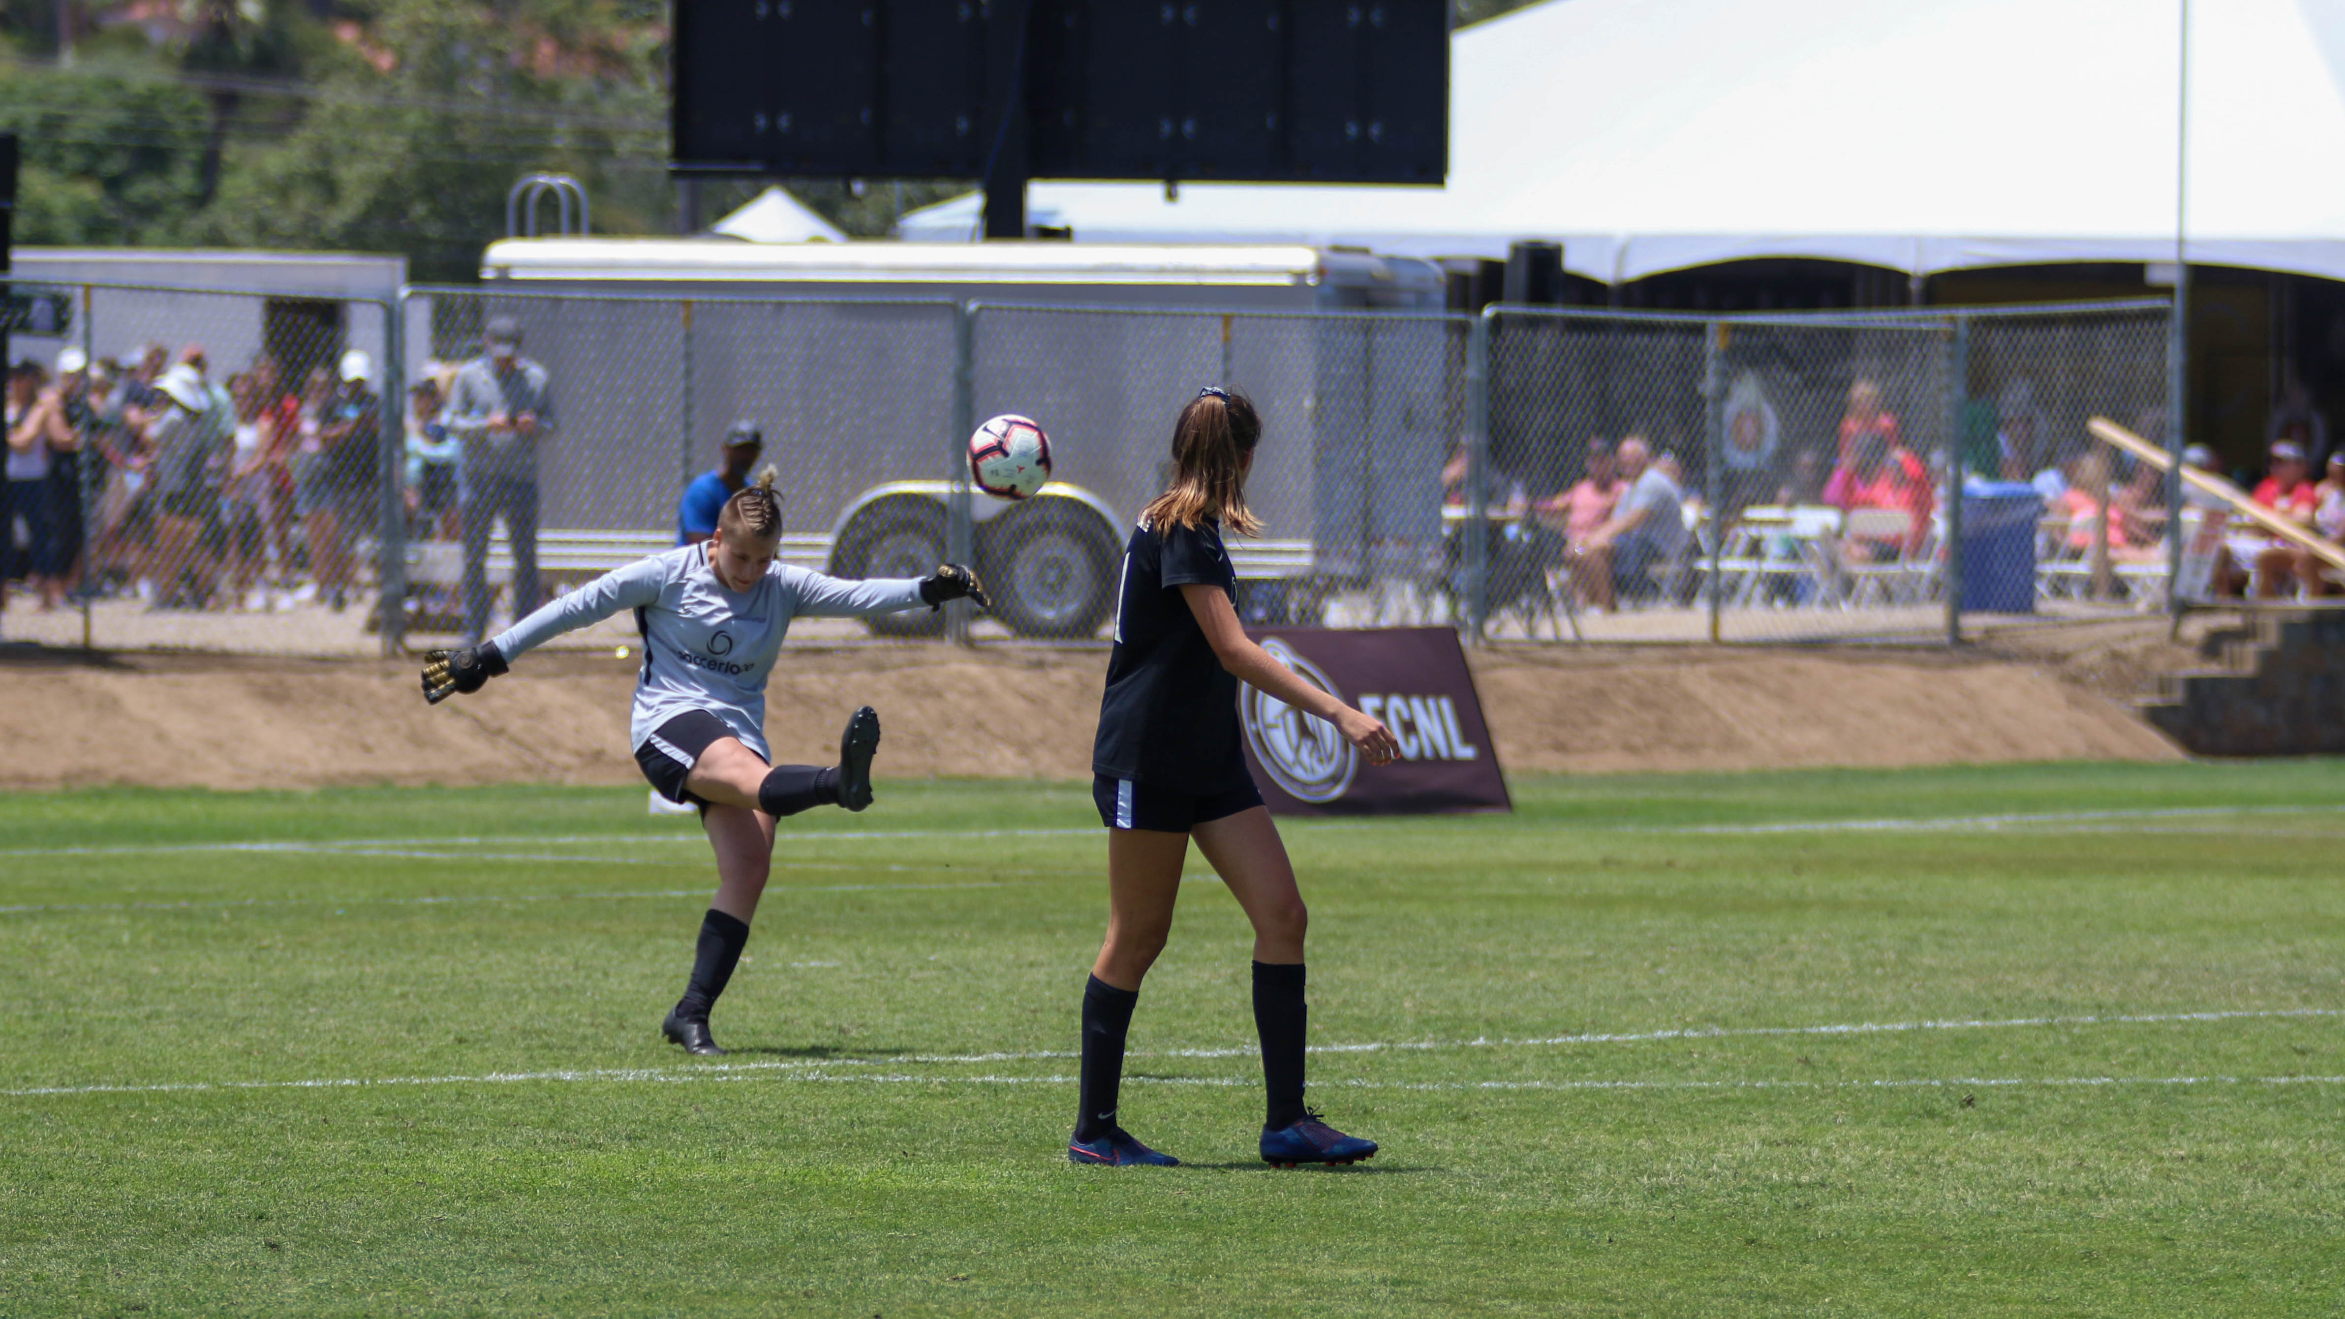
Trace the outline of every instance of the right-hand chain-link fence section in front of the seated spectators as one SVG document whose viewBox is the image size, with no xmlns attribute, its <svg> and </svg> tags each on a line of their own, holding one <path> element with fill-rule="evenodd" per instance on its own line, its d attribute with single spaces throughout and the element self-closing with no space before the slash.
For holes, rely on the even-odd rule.
<svg viewBox="0 0 2345 1319">
<path fill-rule="evenodd" d="M 2164 340 L 2164 305 L 1494 309 L 1459 522 L 1482 527 L 1484 633 L 1921 640 L 2160 609 L 2167 487 L 2085 422 L 2162 443 Z"/>
</svg>

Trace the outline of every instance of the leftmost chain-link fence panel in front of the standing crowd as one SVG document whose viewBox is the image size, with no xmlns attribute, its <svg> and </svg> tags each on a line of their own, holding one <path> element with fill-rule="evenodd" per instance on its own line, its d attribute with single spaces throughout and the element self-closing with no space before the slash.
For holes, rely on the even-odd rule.
<svg viewBox="0 0 2345 1319">
<path fill-rule="evenodd" d="M 380 654 L 401 497 L 389 305 L 108 283 L 14 295 L 47 314 L 9 340 L 0 635 Z"/>
</svg>

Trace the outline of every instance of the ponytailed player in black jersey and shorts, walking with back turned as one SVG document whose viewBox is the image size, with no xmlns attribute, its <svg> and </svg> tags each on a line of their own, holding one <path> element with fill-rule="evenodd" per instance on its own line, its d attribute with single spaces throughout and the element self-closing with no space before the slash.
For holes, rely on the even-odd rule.
<svg viewBox="0 0 2345 1319">
<path fill-rule="evenodd" d="M 1083 986 L 1081 1110 L 1067 1157 L 1083 1164 L 1177 1164 L 1116 1122 L 1123 1033 L 1140 979 L 1172 930 L 1180 869 L 1196 839 L 1255 923 L 1255 1028 L 1273 1164 L 1348 1164 L 1377 1153 L 1304 1108 L 1304 911 L 1294 867 L 1238 750 L 1238 682 L 1327 719 L 1367 764 L 1398 752 L 1391 729 L 1311 686 L 1245 637 L 1238 574 L 1222 529 L 1257 534 L 1245 473 L 1262 417 L 1243 394 L 1205 389 L 1172 429 L 1172 490 L 1140 515 L 1123 548 L 1116 647 L 1107 661 L 1093 797 L 1107 825 L 1107 942 Z"/>
</svg>

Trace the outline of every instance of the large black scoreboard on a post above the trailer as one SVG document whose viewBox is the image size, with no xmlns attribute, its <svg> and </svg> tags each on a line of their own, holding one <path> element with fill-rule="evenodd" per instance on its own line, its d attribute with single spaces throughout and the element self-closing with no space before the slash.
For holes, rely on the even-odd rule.
<svg viewBox="0 0 2345 1319">
<path fill-rule="evenodd" d="M 704 176 L 1440 185 L 1445 0 L 678 0 Z"/>
</svg>

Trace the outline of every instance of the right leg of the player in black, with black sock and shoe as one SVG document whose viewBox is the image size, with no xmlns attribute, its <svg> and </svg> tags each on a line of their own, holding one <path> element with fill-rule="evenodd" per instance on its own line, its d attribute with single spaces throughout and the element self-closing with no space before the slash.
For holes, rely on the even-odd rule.
<svg viewBox="0 0 2345 1319">
<path fill-rule="evenodd" d="M 1304 1106 L 1304 1045 L 1311 1007 L 1304 1003 L 1304 935 L 1311 911 L 1294 886 L 1294 864 L 1278 825 L 1262 806 L 1205 820 L 1196 848 L 1255 925 L 1255 1033 L 1262 1038 L 1262 1082 L 1269 1096 L 1262 1157 L 1273 1164 L 1348 1164 L 1377 1153 L 1374 1141 L 1346 1136 Z"/>
</svg>

